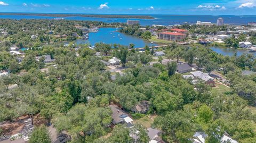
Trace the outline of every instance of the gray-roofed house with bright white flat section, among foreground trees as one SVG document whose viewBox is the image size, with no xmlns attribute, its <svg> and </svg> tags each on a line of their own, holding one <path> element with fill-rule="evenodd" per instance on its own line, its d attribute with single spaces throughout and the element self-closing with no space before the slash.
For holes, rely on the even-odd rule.
<svg viewBox="0 0 256 143">
<path fill-rule="evenodd" d="M 131 117 L 128 116 L 128 114 L 124 113 L 123 110 L 121 110 L 121 108 L 119 108 L 117 105 L 109 105 L 112 114 L 111 117 L 113 119 L 112 123 L 113 124 L 126 124 L 127 127 L 132 127 L 132 122 L 133 120 L 131 119 Z"/>
</svg>

